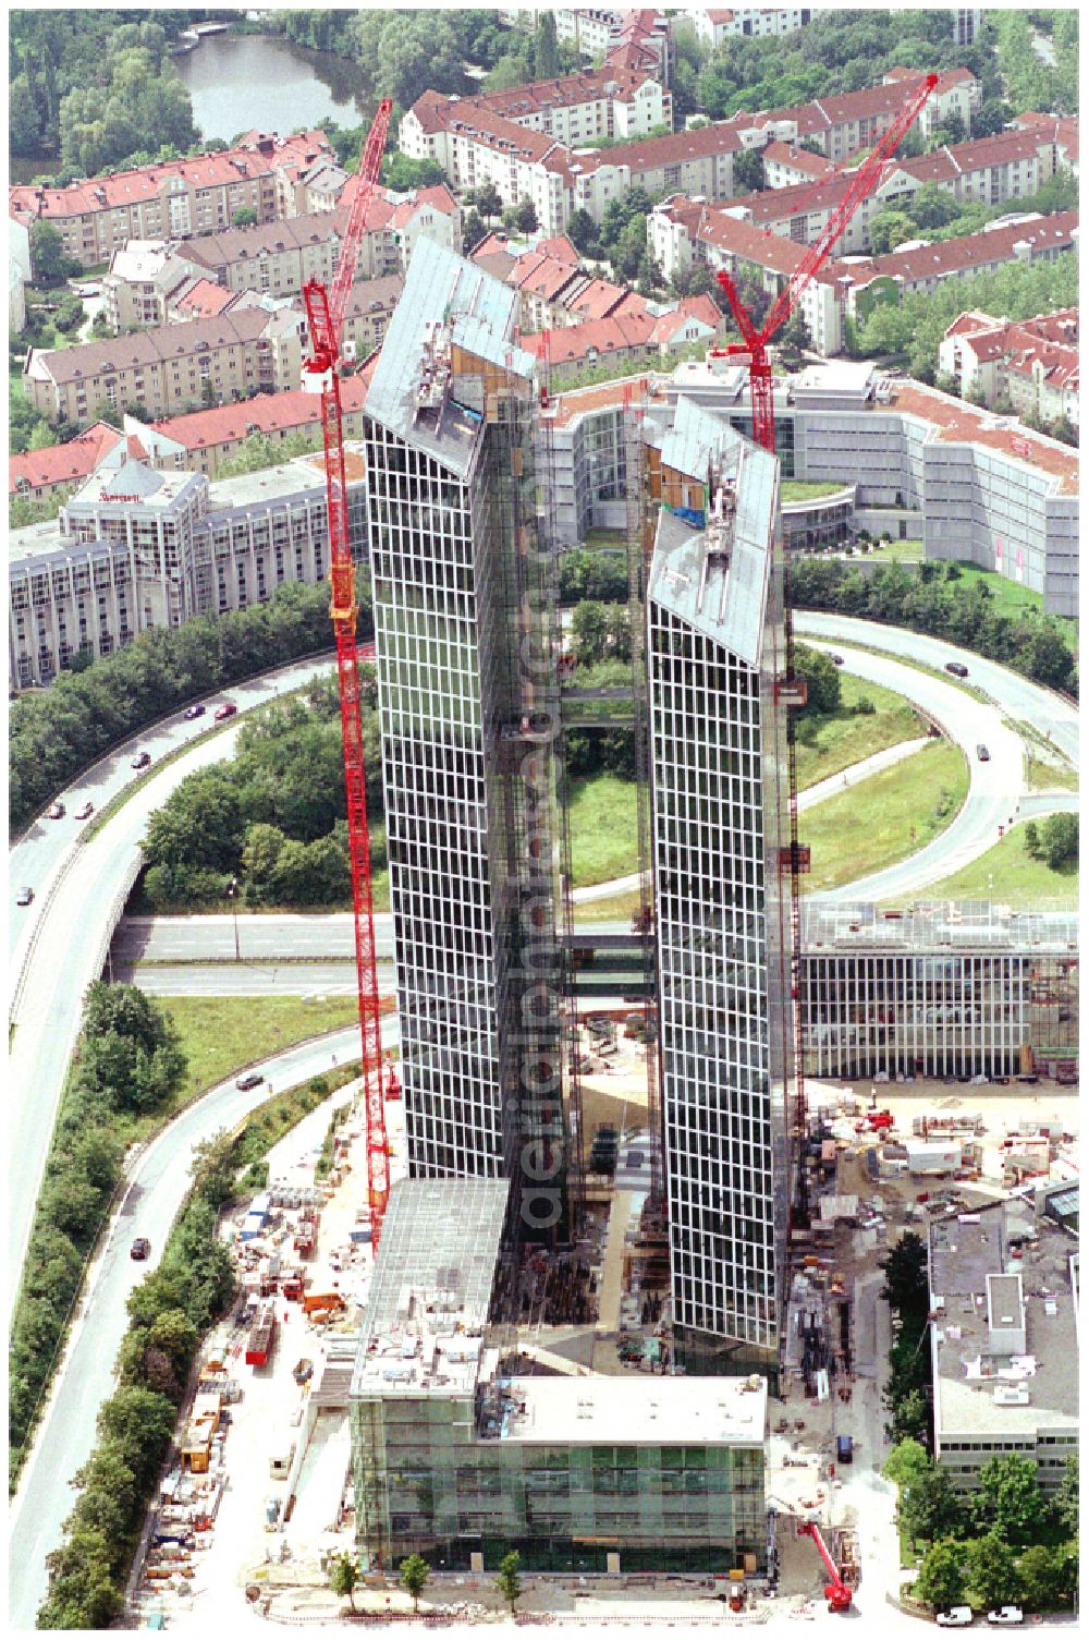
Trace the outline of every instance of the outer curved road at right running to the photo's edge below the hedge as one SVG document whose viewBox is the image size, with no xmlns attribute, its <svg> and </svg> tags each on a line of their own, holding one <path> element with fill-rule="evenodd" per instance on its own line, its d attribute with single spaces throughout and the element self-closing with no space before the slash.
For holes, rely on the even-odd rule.
<svg viewBox="0 0 1089 1640">
<path fill-rule="evenodd" d="M 1079 713 L 1073 700 L 1041 689 L 1009 666 L 997 661 L 986 661 L 971 649 L 956 649 L 940 638 L 925 638 L 922 633 L 907 631 L 904 626 L 882 626 L 879 622 L 856 620 L 853 615 L 823 615 L 815 610 L 799 610 L 794 617 L 794 628 L 799 635 L 823 638 L 827 643 L 866 643 L 887 654 L 899 654 L 910 661 L 922 661 L 925 666 L 943 667 L 948 661 L 959 661 L 968 667 L 968 682 L 976 689 L 984 689 L 1002 712 L 1023 723 L 1032 723 L 1041 735 L 1050 735 L 1051 741 L 1063 751 L 1074 768 L 1079 766 Z"/>
</svg>

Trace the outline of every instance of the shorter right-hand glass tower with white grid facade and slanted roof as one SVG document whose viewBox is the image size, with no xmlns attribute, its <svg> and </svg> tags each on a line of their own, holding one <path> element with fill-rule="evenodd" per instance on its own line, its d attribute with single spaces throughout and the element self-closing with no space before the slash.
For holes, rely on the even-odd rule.
<svg viewBox="0 0 1089 1640">
<path fill-rule="evenodd" d="M 654 459 L 656 456 L 656 459 Z M 792 1077 L 779 471 L 681 399 L 651 456 L 659 1055 L 674 1348 L 777 1381 Z"/>
</svg>

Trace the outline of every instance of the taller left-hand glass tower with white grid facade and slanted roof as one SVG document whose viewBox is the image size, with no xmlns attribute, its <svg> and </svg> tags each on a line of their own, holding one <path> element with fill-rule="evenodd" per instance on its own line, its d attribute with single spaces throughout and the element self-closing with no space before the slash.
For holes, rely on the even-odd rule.
<svg viewBox="0 0 1089 1640">
<path fill-rule="evenodd" d="M 517 312 L 420 241 L 367 390 L 367 497 L 408 1171 L 507 1176 L 523 1232 L 548 1235 L 559 1012 L 525 999 L 558 997 L 554 561 Z"/>
</svg>

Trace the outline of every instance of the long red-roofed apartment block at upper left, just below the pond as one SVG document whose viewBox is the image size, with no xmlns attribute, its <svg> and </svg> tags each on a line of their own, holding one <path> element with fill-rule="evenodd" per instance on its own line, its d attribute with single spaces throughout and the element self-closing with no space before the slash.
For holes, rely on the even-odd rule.
<svg viewBox="0 0 1089 1640">
<path fill-rule="evenodd" d="M 8 189 L 8 215 L 23 226 L 48 221 L 66 256 L 95 267 L 130 239 L 223 231 L 239 210 L 256 212 L 257 221 L 294 215 L 280 172 L 331 154 L 323 131 L 287 138 L 249 131 L 221 154 L 157 161 L 64 189 Z"/>
</svg>

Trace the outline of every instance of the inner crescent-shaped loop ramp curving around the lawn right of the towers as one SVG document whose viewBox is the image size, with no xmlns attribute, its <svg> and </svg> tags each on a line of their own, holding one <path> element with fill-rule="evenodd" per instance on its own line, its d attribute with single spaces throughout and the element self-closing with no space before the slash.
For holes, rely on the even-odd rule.
<svg viewBox="0 0 1089 1640">
<path fill-rule="evenodd" d="M 845 648 L 843 667 L 868 682 L 895 689 L 920 705 L 964 751 L 971 786 L 953 823 L 918 853 L 884 871 L 858 877 L 841 889 L 830 889 L 820 897 L 879 900 L 891 894 L 915 894 L 984 854 L 999 841 L 999 827 L 1015 818 L 1023 782 L 1022 740 L 1020 735 L 1004 728 L 997 707 L 984 705 L 951 682 L 946 684 L 891 656 Z M 986 763 L 976 756 L 979 745 L 991 753 Z"/>
</svg>

